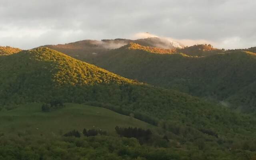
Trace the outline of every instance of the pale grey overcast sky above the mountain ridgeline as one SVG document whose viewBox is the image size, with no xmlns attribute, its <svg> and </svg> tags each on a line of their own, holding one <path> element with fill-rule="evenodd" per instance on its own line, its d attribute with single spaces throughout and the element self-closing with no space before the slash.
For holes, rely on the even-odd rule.
<svg viewBox="0 0 256 160">
<path fill-rule="evenodd" d="M 0 0 L 0 46 L 143 38 L 256 46 L 256 0 Z"/>
</svg>

